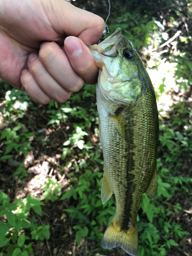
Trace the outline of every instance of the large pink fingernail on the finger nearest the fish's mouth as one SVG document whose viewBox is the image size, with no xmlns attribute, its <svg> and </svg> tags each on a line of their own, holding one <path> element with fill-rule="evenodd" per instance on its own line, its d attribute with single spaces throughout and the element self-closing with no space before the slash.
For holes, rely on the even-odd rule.
<svg viewBox="0 0 192 256">
<path fill-rule="evenodd" d="M 82 53 L 80 41 L 74 36 L 68 36 L 66 38 L 65 49 L 72 57 L 77 57 Z"/>
</svg>

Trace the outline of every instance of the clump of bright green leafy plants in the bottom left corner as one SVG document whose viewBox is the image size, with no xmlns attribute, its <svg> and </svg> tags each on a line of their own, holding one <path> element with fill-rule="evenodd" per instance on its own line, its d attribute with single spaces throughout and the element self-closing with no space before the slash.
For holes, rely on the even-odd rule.
<svg viewBox="0 0 192 256">
<path fill-rule="evenodd" d="M 0 247 L 7 250 L 7 255 L 27 256 L 33 254 L 32 242 L 27 240 L 49 239 L 49 226 L 38 225 L 36 219 L 29 221 L 28 215 L 32 208 L 36 214 L 41 216 L 41 205 L 38 199 L 33 199 L 30 195 L 26 199 L 17 199 L 10 203 L 9 197 L 1 191 L 0 193 Z M 29 229 L 29 231 L 28 231 Z M 31 237 L 26 236 L 30 232 Z M 3 251 L 2 251 L 3 252 Z"/>
</svg>

